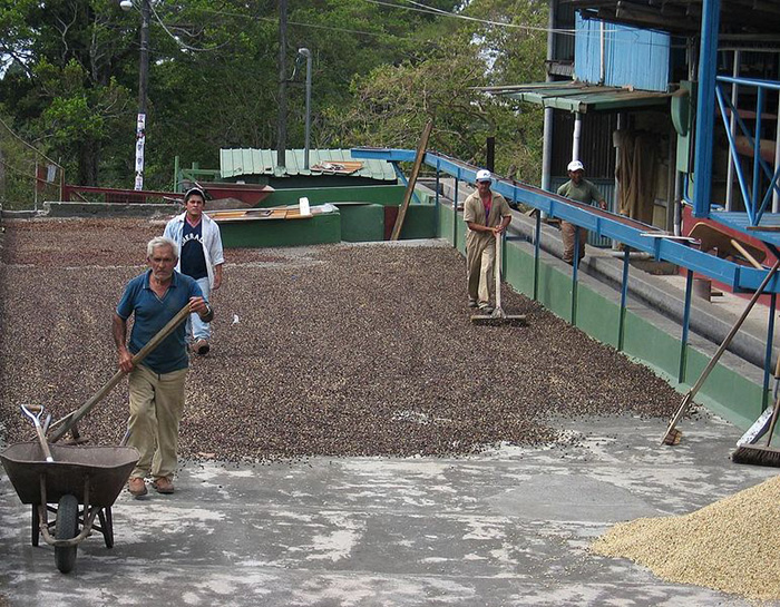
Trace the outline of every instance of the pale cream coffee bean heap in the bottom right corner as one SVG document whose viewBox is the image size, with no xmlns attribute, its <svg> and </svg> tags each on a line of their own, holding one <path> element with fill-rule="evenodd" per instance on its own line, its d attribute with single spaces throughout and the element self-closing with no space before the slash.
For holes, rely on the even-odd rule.
<svg viewBox="0 0 780 607">
<path fill-rule="evenodd" d="M 591 549 L 667 581 L 780 600 L 780 477 L 689 515 L 618 523 Z"/>
</svg>

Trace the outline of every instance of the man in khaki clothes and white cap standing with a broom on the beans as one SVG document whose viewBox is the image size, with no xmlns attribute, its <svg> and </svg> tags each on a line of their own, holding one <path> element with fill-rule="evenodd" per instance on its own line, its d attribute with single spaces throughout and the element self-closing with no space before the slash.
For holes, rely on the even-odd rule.
<svg viewBox="0 0 780 607">
<path fill-rule="evenodd" d="M 477 190 L 464 203 L 466 231 L 466 278 L 468 305 L 490 314 L 490 295 L 494 293 L 494 263 L 496 261 L 496 234 L 511 222 L 511 211 L 506 198 L 490 189 L 489 170 L 477 172 Z"/>
</svg>

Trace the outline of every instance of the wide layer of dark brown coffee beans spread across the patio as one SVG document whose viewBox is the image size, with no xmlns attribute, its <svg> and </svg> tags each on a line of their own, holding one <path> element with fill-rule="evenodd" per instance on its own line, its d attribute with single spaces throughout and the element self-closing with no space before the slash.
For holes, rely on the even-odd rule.
<svg viewBox="0 0 780 607">
<path fill-rule="evenodd" d="M 0 263 L 0 427 L 35 432 L 117 370 L 111 314 L 164 222 L 9 222 Z M 477 326 L 450 246 L 227 249 L 212 351 L 187 379 L 181 453 L 227 461 L 460 456 L 578 440 L 558 417 L 667 418 L 663 380 L 506 288 L 528 325 Z M 127 423 L 120 383 L 82 421 L 92 444 Z M 0 437 L 1 438 L 1 437 Z"/>
</svg>

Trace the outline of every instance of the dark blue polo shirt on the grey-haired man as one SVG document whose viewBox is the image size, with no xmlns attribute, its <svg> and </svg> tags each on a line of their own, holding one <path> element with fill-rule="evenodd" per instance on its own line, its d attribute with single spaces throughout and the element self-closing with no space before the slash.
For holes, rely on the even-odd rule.
<svg viewBox="0 0 780 607">
<path fill-rule="evenodd" d="M 168 321 L 187 304 L 189 297 L 203 297 L 203 292 L 189 276 L 174 272 L 170 286 L 160 298 L 149 287 L 152 270 L 133 278 L 117 304 L 117 314 L 127 321 L 135 314 L 127 349 L 136 354 Z M 144 359 L 142 364 L 155 373 L 170 373 L 188 366 L 185 324 L 181 323 Z"/>
</svg>

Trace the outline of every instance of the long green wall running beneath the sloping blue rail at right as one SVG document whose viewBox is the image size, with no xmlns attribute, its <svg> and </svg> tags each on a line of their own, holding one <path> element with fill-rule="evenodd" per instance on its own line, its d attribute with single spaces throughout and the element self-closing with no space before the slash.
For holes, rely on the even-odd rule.
<svg viewBox="0 0 780 607">
<path fill-rule="evenodd" d="M 452 208 L 439 206 L 438 218 L 439 237 L 452 242 Z M 465 254 L 462 224 L 462 214 L 459 213 L 455 229 L 456 246 Z M 517 292 L 533 298 L 533 248 L 526 243 L 520 245 L 508 241 L 504 251 L 506 281 Z M 539 262 L 537 301 L 567 322 L 572 322 L 572 273 L 568 266 Z M 584 281 L 577 284 L 576 291 L 574 324 L 599 342 L 616 347 L 621 313 L 617 300 L 620 293 L 606 287 L 591 286 Z M 650 322 L 646 314 L 631 307 L 626 310 L 623 331 L 622 351 L 653 369 L 682 394 L 696 382 L 712 356 L 712 352 L 705 353 L 689 342 L 681 382 L 679 381 L 681 335 L 673 334 L 673 331 L 671 334 L 667 333 L 661 326 Z M 737 427 L 748 429 L 761 413 L 766 396 L 760 382 L 744 378 L 738 371 L 725 366 L 721 360 L 721 363 L 710 373 L 695 400 Z"/>
</svg>

